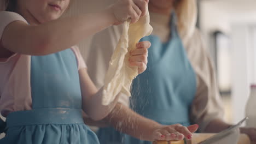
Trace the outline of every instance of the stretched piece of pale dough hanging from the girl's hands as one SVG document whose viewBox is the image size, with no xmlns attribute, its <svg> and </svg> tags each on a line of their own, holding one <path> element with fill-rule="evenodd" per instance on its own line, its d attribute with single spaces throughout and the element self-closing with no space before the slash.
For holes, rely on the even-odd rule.
<svg viewBox="0 0 256 144">
<path fill-rule="evenodd" d="M 131 96 L 130 86 L 138 75 L 138 68 L 130 67 L 128 62 L 130 54 L 127 52 L 136 49 L 136 43 L 152 33 L 153 28 L 149 25 L 149 21 L 147 9 L 147 14 L 136 23 L 124 22 L 123 33 L 110 59 L 105 76 L 102 105 L 110 104 L 120 92 Z"/>
</svg>

